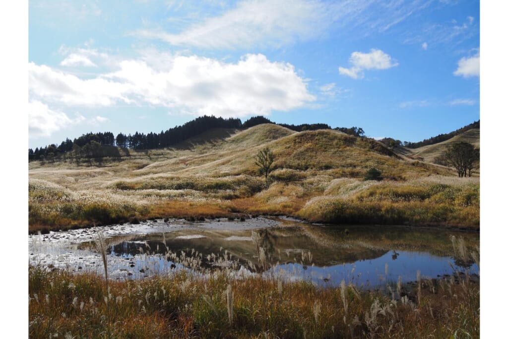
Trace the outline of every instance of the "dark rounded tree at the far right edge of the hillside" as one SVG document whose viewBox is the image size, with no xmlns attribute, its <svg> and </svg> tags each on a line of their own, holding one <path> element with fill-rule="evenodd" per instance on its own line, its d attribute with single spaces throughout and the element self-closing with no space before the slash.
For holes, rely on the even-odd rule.
<svg viewBox="0 0 508 339">
<path fill-rule="evenodd" d="M 471 171 L 480 164 L 480 149 L 461 141 L 449 146 L 444 158 L 455 167 L 459 177 L 471 176 Z"/>
</svg>

